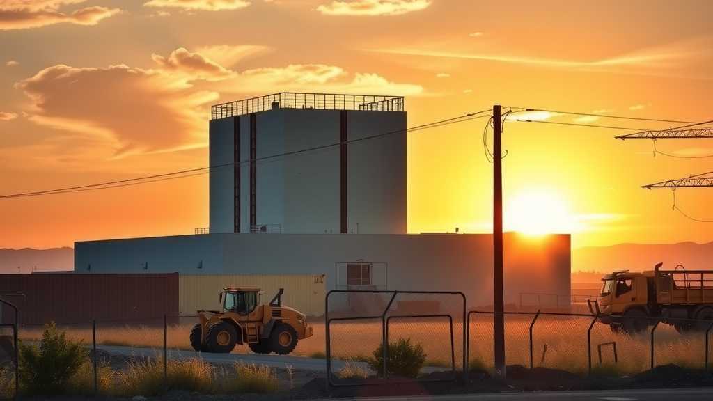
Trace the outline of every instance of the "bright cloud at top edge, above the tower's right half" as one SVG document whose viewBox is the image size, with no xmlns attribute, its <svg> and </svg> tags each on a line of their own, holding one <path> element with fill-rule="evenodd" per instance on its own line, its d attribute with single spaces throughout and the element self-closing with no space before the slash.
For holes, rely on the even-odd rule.
<svg viewBox="0 0 713 401">
<path fill-rule="evenodd" d="M 317 11 L 326 15 L 401 15 L 430 5 L 431 0 L 335 0 L 318 6 Z"/>
</svg>

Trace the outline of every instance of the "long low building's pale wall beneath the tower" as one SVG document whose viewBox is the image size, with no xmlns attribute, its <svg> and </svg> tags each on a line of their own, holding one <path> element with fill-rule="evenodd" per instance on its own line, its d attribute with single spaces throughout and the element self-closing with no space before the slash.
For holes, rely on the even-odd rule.
<svg viewBox="0 0 713 401">
<path fill-rule="evenodd" d="M 533 240 L 507 234 L 505 249 L 507 303 L 517 304 L 520 293 L 570 294 L 569 235 Z M 487 306 L 493 288 L 492 250 L 488 234 L 183 235 L 76 243 L 75 269 L 79 273 L 324 274 L 329 290 L 337 285 L 336 263 L 364 260 L 386 263 L 389 290 L 457 290 L 466 293 L 471 306 Z M 143 270 L 145 262 L 148 270 Z"/>
</svg>

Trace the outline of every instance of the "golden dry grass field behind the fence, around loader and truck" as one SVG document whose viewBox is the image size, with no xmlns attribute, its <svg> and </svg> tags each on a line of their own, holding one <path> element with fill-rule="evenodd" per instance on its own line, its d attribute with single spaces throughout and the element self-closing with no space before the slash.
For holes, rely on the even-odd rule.
<svg viewBox="0 0 713 401">
<path fill-rule="evenodd" d="M 476 315 L 471 322 L 470 358 L 483 366 L 493 364 L 493 323 L 489 315 Z M 528 326 L 531 317 L 508 315 L 506 318 L 507 363 L 529 365 Z M 540 315 L 535 324 L 534 362 L 535 366 L 553 367 L 584 373 L 587 370 L 587 328 L 591 318 L 559 318 Z M 190 350 L 188 335 L 193 322 L 170 325 L 168 347 Z M 314 335 L 299 340 L 294 350 L 296 356 L 324 357 L 324 323 L 312 323 Z M 91 329 L 66 327 L 67 337 L 91 343 Z M 462 325 L 453 323 L 453 338 L 456 350 L 456 367 L 460 367 L 462 355 Z M 381 343 L 381 320 L 359 322 L 335 322 L 332 324 L 332 355 L 343 360 L 366 360 Z M 20 332 L 25 340 L 39 340 L 41 330 Z M 429 355 L 428 365 L 450 366 L 451 348 L 448 325 L 438 319 L 393 321 L 389 325 L 389 337 L 411 337 L 424 347 Z M 602 372 L 630 374 L 647 370 L 650 366 L 649 335 L 620 335 L 611 333 L 608 326 L 597 323 L 592 333 L 593 365 L 597 367 L 597 345 L 615 341 L 619 363 L 614 368 L 610 348 L 602 350 L 604 366 Z M 163 328 L 149 326 L 125 326 L 98 328 L 97 340 L 105 345 L 129 345 L 140 347 L 163 347 Z M 713 343 L 713 342 L 712 342 Z M 543 348 L 547 351 L 543 358 Z M 668 325 L 660 325 L 655 337 L 656 365 L 674 363 L 682 367 L 702 367 L 704 338 L 702 333 L 680 335 Z M 237 346 L 233 352 L 249 353 L 247 346 Z M 607 365 L 608 364 L 608 365 Z"/>
</svg>

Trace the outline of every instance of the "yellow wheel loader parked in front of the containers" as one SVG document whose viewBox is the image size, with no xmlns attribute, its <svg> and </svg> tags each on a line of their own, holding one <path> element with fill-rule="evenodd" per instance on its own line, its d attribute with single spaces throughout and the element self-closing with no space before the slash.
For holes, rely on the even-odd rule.
<svg viewBox="0 0 713 401">
<path fill-rule="evenodd" d="M 236 344 L 247 344 L 252 352 L 287 355 L 297 340 L 312 336 L 303 313 L 281 303 L 279 289 L 267 305 L 260 304 L 260 288 L 229 287 L 220 293 L 221 311 L 199 310 L 200 323 L 190 331 L 196 351 L 230 352 Z"/>
</svg>

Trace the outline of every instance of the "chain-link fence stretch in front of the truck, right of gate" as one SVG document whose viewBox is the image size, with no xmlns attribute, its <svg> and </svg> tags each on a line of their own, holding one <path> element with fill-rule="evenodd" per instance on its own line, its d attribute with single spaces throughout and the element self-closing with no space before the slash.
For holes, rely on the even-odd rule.
<svg viewBox="0 0 713 401">
<path fill-rule="evenodd" d="M 506 312 L 506 364 L 580 375 L 630 375 L 656 366 L 709 370 L 713 321 L 645 315 Z M 468 313 L 471 369 L 493 370 L 493 312 Z"/>
</svg>

